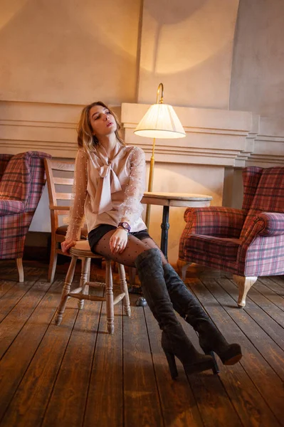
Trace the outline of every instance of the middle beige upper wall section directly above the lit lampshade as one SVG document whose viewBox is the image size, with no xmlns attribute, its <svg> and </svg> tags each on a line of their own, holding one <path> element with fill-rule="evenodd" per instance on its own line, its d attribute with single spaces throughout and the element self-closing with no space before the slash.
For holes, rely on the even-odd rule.
<svg viewBox="0 0 284 427">
<path fill-rule="evenodd" d="M 144 0 L 139 102 L 228 108 L 238 0 Z"/>
</svg>

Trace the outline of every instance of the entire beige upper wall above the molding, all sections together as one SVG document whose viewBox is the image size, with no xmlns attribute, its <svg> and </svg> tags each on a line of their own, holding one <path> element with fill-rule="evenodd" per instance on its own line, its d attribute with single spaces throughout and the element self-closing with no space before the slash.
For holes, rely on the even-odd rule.
<svg viewBox="0 0 284 427">
<path fill-rule="evenodd" d="M 0 98 L 151 103 L 162 81 L 173 105 L 282 117 L 283 14 L 283 0 L 0 0 Z"/>
</svg>

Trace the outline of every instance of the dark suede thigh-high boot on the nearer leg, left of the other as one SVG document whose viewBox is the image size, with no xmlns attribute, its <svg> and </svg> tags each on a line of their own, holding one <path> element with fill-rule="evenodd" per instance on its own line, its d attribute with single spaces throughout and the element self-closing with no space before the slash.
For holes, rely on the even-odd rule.
<svg viewBox="0 0 284 427">
<path fill-rule="evenodd" d="M 174 357 L 183 364 L 186 374 L 214 370 L 211 356 L 200 354 L 186 336 L 177 320 L 169 299 L 159 249 L 151 248 L 137 256 L 135 265 L 140 278 L 143 295 L 162 330 L 162 348 L 167 357 L 172 379 L 177 378 Z"/>
</svg>

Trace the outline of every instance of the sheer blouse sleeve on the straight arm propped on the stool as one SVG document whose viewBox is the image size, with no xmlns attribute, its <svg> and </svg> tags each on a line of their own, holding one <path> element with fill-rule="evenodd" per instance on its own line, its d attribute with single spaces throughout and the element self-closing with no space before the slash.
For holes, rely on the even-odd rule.
<svg viewBox="0 0 284 427">
<path fill-rule="evenodd" d="M 80 228 L 84 223 L 84 204 L 87 195 L 87 154 L 78 151 L 75 159 L 73 194 L 68 216 L 68 229 L 65 239 L 80 239 Z"/>
</svg>

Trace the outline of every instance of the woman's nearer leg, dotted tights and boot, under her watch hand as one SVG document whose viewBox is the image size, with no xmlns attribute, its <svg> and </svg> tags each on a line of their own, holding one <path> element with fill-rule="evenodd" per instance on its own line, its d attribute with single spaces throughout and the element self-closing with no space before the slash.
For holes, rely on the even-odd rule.
<svg viewBox="0 0 284 427">
<path fill-rule="evenodd" d="M 115 230 L 107 232 L 93 249 L 96 253 L 117 263 L 137 268 L 144 297 L 162 329 L 162 348 L 166 354 L 172 378 L 177 377 L 175 356 L 180 359 L 187 374 L 214 369 L 213 359 L 196 352 L 174 314 L 164 282 L 159 249 L 150 248 L 147 242 L 130 235 L 125 251 L 114 254 L 110 251 L 110 238 L 113 233 Z"/>
</svg>

